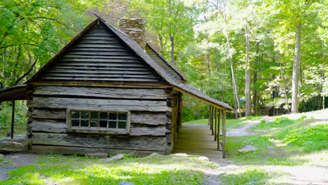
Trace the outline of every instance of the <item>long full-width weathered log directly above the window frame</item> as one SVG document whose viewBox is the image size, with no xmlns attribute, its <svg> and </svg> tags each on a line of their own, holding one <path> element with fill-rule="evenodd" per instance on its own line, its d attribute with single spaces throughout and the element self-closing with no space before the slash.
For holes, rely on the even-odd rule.
<svg viewBox="0 0 328 185">
<path fill-rule="evenodd" d="M 150 100 L 97 100 L 62 97 L 34 97 L 27 101 L 27 107 L 78 109 L 95 111 L 167 111 L 165 101 Z"/>
</svg>

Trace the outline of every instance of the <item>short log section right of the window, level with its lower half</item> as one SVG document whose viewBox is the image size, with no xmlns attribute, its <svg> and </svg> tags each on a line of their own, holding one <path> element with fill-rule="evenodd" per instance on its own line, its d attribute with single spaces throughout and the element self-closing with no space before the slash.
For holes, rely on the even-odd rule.
<svg viewBox="0 0 328 185">
<path fill-rule="evenodd" d="M 151 136 L 165 136 L 166 130 L 165 125 L 158 126 L 144 126 L 138 124 L 131 124 L 130 135 L 151 135 Z"/>
</svg>

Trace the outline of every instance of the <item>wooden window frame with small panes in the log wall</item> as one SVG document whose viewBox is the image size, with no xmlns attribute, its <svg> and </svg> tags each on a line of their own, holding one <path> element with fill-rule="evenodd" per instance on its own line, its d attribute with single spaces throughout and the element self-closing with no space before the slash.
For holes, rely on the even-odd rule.
<svg viewBox="0 0 328 185">
<path fill-rule="evenodd" d="M 72 118 L 71 118 L 71 112 L 72 111 L 78 111 L 78 112 L 88 112 L 89 118 L 88 118 L 88 127 L 74 127 L 71 125 Z M 98 125 L 98 128 L 92 128 L 90 127 L 90 121 L 92 118 L 90 118 L 91 112 L 106 112 L 107 113 L 107 128 L 100 128 L 100 125 Z M 118 115 L 116 118 L 116 128 L 109 128 L 109 114 L 126 114 L 126 128 L 118 128 Z M 98 115 L 98 120 L 100 121 L 100 115 Z M 114 120 L 113 120 L 114 121 Z M 71 133 L 90 133 L 90 134 L 104 134 L 104 135 L 128 135 L 130 134 L 130 122 L 131 122 L 131 111 L 116 111 L 116 110 L 103 110 L 103 109 L 67 109 L 67 132 Z M 99 123 L 100 124 L 100 123 Z"/>
</svg>

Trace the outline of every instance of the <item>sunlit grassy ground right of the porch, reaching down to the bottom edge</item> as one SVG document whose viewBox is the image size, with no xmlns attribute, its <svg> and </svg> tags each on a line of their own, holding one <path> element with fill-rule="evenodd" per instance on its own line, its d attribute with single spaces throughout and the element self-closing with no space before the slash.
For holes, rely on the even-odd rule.
<svg viewBox="0 0 328 185">
<path fill-rule="evenodd" d="M 320 112 L 327 115 L 327 111 Z M 322 167 L 328 166 L 328 122 L 306 120 L 308 114 L 261 121 L 250 128 L 259 135 L 227 137 L 228 158 L 242 170 L 220 174 L 222 184 L 310 184 L 306 178 L 324 174 Z M 258 150 L 238 152 L 248 144 Z"/>
</svg>

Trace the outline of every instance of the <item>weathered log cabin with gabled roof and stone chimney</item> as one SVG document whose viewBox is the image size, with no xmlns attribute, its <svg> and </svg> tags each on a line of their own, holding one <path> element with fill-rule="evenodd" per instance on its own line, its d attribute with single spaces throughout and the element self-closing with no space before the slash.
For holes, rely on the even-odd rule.
<svg viewBox="0 0 328 185">
<path fill-rule="evenodd" d="M 121 19 L 119 27 L 98 17 L 25 85 L 0 90 L 0 101 L 27 100 L 30 151 L 168 154 L 183 94 L 233 110 L 186 84 L 145 42 L 142 19 Z"/>
</svg>

